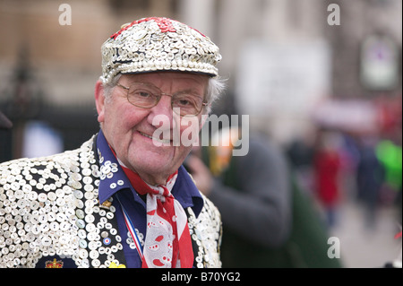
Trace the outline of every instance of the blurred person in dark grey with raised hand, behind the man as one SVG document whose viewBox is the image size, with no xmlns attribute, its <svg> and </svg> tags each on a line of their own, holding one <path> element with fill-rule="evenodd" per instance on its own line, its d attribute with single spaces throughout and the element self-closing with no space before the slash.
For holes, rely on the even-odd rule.
<svg viewBox="0 0 403 286">
<path fill-rule="evenodd" d="M 231 133 L 237 136 L 237 129 L 225 134 Z M 196 186 L 221 213 L 224 267 L 264 267 L 268 259 L 264 248 L 284 244 L 291 229 L 286 160 L 262 136 L 251 135 L 249 139 L 246 156 L 232 157 L 232 148 L 226 152 L 226 146 L 205 150 L 210 169 L 198 156 L 186 160 Z"/>
</svg>

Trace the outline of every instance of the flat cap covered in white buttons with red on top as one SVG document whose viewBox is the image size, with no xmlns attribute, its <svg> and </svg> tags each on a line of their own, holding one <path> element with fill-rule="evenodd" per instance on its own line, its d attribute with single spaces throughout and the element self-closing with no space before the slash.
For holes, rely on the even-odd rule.
<svg viewBox="0 0 403 286">
<path fill-rule="evenodd" d="M 104 83 L 116 74 L 182 71 L 218 76 L 219 48 L 184 23 L 150 17 L 124 24 L 101 48 Z"/>
</svg>

